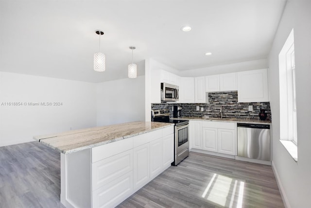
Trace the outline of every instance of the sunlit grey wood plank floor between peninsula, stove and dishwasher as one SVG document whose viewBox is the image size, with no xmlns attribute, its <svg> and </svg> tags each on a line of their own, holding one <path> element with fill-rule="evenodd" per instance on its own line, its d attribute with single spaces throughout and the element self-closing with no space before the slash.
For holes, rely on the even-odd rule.
<svg viewBox="0 0 311 208">
<path fill-rule="evenodd" d="M 271 166 L 190 152 L 118 208 L 284 208 Z"/>
</svg>

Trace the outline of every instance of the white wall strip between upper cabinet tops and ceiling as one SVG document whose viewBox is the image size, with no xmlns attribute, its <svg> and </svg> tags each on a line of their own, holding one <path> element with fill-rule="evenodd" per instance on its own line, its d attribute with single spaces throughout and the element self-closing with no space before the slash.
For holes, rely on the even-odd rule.
<svg viewBox="0 0 311 208">
<path fill-rule="evenodd" d="M 249 71 L 255 69 L 266 69 L 266 68 L 268 68 L 267 59 L 258 59 L 238 63 L 210 66 L 201 69 L 186 70 L 180 72 L 179 76 L 195 77 L 195 76 L 218 75 L 218 74 Z"/>
</svg>

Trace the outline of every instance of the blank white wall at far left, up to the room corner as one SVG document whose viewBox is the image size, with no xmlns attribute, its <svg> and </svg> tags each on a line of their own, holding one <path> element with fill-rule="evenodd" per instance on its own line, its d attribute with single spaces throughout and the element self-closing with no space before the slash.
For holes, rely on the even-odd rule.
<svg viewBox="0 0 311 208">
<path fill-rule="evenodd" d="M 5 106 L 6 102 L 23 105 Z M 28 102 L 63 105 L 30 106 Z M 0 146 L 34 141 L 35 135 L 96 126 L 95 102 L 94 83 L 0 72 Z"/>
</svg>

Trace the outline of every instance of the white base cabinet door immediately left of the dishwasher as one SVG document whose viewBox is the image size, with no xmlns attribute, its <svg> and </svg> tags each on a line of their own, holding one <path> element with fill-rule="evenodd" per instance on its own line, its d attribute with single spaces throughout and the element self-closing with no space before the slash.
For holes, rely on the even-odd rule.
<svg viewBox="0 0 311 208">
<path fill-rule="evenodd" d="M 218 152 L 236 155 L 235 130 L 218 129 Z"/>
</svg>

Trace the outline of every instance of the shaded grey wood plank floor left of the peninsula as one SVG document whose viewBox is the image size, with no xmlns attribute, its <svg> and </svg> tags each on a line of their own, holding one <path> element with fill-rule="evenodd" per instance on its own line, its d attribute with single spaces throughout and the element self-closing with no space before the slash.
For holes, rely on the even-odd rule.
<svg viewBox="0 0 311 208">
<path fill-rule="evenodd" d="M 0 147 L 0 208 L 65 208 L 60 153 L 39 142 Z"/>
</svg>

